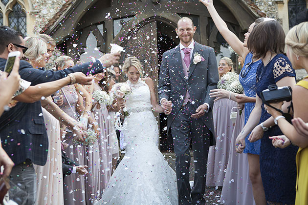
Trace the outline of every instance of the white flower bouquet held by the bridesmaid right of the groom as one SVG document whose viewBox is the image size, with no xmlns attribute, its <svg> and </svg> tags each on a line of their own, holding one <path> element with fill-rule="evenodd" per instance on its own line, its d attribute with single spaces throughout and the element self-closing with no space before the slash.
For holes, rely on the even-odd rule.
<svg viewBox="0 0 308 205">
<path fill-rule="evenodd" d="M 234 72 L 227 72 L 224 74 L 218 82 L 217 88 L 238 94 L 242 94 L 244 92 L 239 80 L 239 75 Z"/>
</svg>

